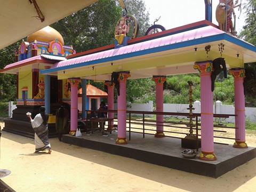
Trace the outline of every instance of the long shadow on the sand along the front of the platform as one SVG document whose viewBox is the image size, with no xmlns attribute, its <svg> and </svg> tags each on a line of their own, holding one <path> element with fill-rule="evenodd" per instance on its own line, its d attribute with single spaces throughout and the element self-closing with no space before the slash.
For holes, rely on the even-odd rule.
<svg viewBox="0 0 256 192">
<path fill-rule="evenodd" d="M 34 144 L 33 139 L 12 133 L 2 132 L 2 137 L 21 144 Z M 188 191 L 216 191 L 216 187 L 220 186 L 221 189 L 223 189 L 221 191 L 234 191 L 256 175 L 256 158 L 222 175 L 218 179 L 214 179 L 137 161 L 131 158 L 111 155 L 97 150 L 69 145 L 60 142 L 57 138 L 50 139 L 50 142 L 53 149 L 52 153 L 58 151 L 59 153 L 90 161 L 92 164 L 95 163 L 111 167 L 119 171 Z M 41 154 L 33 154 L 31 151 L 31 154 L 20 155 L 34 156 Z M 220 190 L 218 189 L 218 191 Z"/>
</svg>

